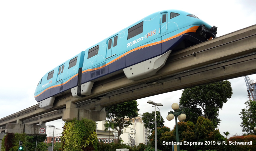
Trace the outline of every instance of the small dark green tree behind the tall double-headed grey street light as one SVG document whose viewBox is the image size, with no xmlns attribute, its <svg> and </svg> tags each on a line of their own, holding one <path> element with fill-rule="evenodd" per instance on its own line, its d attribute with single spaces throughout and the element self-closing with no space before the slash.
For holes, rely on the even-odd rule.
<svg viewBox="0 0 256 151">
<path fill-rule="evenodd" d="M 160 118 L 161 118 L 161 120 L 160 120 Z M 153 130 L 155 129 L 155 111 L 153 111 L 152 113 L 149 113 L 149 112 L 143 113 L 142 120 L 143 120 L 145 128 L 149 129 L 150 132 L 152 133 Z M 160 112 L 156 111 L 156 123 L 157 123 L 158 128 L 161 127 L 161 122 L 162 122 L 162 127 L 164 127 L 164 119 L 160 115 Z"/>
</svg>

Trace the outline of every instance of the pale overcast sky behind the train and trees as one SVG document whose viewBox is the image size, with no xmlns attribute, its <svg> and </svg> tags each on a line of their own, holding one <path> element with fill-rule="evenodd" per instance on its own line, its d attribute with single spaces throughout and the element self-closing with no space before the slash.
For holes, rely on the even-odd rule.
<svg viewBox="0 0 256 151">
<path fill-rule="evenodd" d="M 0 118 L 37 104 L 34 91 L 42 76 L 86 48 L 154 12 L 184 10 L 218 27 L 217 37 L 256 24 L 255 0 L 212 2 L 173 0 L 0 1 Z M 256 80 L 256 74 L 249 75 Z M 247 98 L 243 77 L 230 79 L 233 95 L 219 111 L 220 133 L 242 134 L 239 113 Z M 148 100 L 159 107 L 165 125 L 171 104 L 179 103 L 182 90 L 137 100 L 140 113 L 152 112 Z M 57 128 L 62 119 L 47 122 Z"/>
</svg>

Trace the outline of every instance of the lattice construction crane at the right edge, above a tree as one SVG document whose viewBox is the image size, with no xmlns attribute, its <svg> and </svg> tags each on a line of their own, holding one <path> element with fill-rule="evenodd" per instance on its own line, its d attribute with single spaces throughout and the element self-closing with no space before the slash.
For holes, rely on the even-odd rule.
<svg viewBox="0 0 256 151">
<path fill-rule="evenodd" d="M 256 101 L 256 83 L 251 80 L 248 75 L 244 76 L 245 83 L 247 86 L 248 97 L 252 101 Z"/>
</svg>

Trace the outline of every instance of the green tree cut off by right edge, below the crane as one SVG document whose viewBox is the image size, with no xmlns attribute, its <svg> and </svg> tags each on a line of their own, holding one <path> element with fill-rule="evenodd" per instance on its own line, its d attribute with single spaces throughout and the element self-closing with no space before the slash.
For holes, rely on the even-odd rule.
<svg viewBox="0 0 256 151">
<path fill-rule="evenodd" d="M 247 134 L 254 134 L 256 135 L 255 131 L 253 130 L 256 124 L 256 101 L 246 101 L 246 108 L 242 109 L 240 112 L 242 115 L 242 122 L 240 126 L 242 127 L 243 132 L 247 132 Z"/>
</svg>

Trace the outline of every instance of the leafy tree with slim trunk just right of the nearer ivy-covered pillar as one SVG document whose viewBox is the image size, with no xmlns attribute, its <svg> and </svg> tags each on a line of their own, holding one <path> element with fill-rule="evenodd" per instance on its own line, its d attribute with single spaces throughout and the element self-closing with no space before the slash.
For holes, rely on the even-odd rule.
<svg viewBox="0 0 256 151">
<path fill-rule="evenodd" d="M 131 125 L 131 121 L 125 120 L 125 118 L 128 117 L 129 119 L 132 119 L 137 117 L 137 106 L 137 101 L 133 100 L 106 107 L 108 123 L 105 124 L 105 131 L 110 126 L 113 126 L 118 132 L 117 142 L 120 140 L 120 135 L 123 132 L 122 130 Z"/>
</svg>

